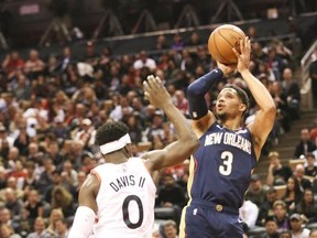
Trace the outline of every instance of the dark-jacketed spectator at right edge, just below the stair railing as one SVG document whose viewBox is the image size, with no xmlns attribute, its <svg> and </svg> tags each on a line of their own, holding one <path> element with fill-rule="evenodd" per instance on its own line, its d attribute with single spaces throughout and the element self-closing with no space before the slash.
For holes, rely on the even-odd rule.
<svg viewBox="0 0 317 238">
<path fill-rule="evenodd" d="M 300 141 L 294 151 L 294 158 L 299 159 L 300 155 L 306 155 L 317 149 L 316 144 L 310 140 L 308 128 L 300 130 Z"/>
</svg>

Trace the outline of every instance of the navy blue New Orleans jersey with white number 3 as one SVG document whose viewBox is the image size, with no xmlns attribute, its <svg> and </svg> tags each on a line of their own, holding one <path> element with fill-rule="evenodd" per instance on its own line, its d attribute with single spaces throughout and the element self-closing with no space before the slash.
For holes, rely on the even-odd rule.
<svg viewBox="0 0 317 238">
<path fill-rule="evenodd" d="M 250 130 L 229 130 L 215 122 L 199 141 L 192 158 L 195 171 L 188 181 L 190 198 L 239 209 L 256 163 Z"/>
</svg>

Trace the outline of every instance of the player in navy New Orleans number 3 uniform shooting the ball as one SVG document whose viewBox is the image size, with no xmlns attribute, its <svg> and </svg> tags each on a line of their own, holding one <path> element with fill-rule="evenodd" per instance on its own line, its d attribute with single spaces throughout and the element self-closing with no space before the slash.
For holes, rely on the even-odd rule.
<svg viewBox="0 0 317 238">
<path fill-rule="evenodd" d="M 208 110 L 205 94 L 230 74 L 233 66 L 218 62 L 218 68 L 192 83 L 187 89 L 193 127 L 200 147 L 190 160 L 189 202 L 183 209 L 181 238 L 242 238 L 239 207 L 251 181 L 261 149 L 273 128 L 275 105 L 266 88 L 249 71 L 251 44 L 240 41 L 234 52 L 237 69 L 247 83 L 260 110 L 241 127 L 249 99 L 244 90 L 226 85 L 219 93 L 216 116 Z"/>
</svg>

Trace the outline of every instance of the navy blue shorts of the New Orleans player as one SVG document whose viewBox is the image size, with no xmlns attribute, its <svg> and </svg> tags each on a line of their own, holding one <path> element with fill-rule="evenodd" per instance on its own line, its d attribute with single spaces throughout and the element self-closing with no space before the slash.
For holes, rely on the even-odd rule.
<svg viewBox="0 0 317 238">
<path fill-rule="evenodd" d="M 186 238 L 242 238 L 239 210 L 204 201 L 193 201 L 186 208 Z"/>
</svg>

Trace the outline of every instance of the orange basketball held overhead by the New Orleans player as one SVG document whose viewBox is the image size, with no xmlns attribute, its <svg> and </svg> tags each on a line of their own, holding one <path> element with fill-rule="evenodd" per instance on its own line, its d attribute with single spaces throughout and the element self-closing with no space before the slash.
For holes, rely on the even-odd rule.
<svg viewBox="0 0 317 238">
<path fill-rule="evenodd" d="M 220 25 L 209 36 L 208 51 L 214 60 L 222 64 L 237 64 L 238 58 L 232 47 L 240 52 L 240 40 L 244 37 L 244 32 L 237 25 Z"/>
</svg>

